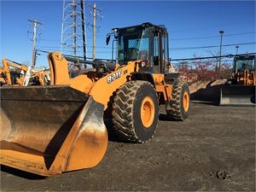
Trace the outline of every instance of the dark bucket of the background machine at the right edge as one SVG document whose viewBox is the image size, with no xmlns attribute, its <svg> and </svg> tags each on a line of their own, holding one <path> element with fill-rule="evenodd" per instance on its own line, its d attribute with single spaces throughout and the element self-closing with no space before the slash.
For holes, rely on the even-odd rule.
<svg viewBox="0 0 256 192">
<path fill-rule="evenodd" d="M 220 90 L 219 105 L 255 106 L 255 86 L 227 85 Z"/>
</svg>

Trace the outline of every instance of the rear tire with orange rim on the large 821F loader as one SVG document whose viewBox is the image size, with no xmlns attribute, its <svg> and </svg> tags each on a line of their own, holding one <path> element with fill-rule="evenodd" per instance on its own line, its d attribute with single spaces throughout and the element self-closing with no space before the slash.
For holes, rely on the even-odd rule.
<svg viewBox="0 0 256 192">
<path fill-rule="evenodd" d="M 174 120 L 184 120 L 189 117 L 189 110 L 189 86 L 182 81 L 177 81 L 173 85 L 172 100 L 166 103 L 166 113 Z"/>
</svg>

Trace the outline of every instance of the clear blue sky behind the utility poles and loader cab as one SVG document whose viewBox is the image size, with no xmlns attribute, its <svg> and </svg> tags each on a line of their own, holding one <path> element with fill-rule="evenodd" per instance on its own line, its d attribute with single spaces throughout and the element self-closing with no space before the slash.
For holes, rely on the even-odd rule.
<svg viewBox="0 0 256 192">
<path fill-rule="evenodd" d="M 90 7 L 85 1 L 86 21 L 91 23 Z M 96 1 L 102 20 L 96 34 L 96 57 L 111 58 L 105 37 L 113 27 L 132 26 L 150 21 L 164 24 L 169 31 L 170 57 L 187 58 L 218 53 L 211 49 L 178 49 L 218 45 L 219 30 L 223 44 L 255 42 L 255 1 Z M 1 1 L 0 57 L 32 63 L 32 26 L 27 19 L 43 22 L 38 27 L 38 49 L 60 50 L 62 1 Z M 91 56 L 91 28 L 87 26 L 88 56 Z M 188 39 L 192 38 L 192 39 Z M 256 52 L 255 44 L 240 45 L 239 53 Z M 235 54 L 236 46 L 223 48 Z M 79 54 L 81 54 L 79 52 Z M 38 66 L 47 66 L 46 55 L 38 56 Z"/>
</svg>

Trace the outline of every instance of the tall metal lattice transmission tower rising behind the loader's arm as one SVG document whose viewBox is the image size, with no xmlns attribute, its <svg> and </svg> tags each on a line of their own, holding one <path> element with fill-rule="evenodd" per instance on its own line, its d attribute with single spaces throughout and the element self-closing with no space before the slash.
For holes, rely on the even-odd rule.
<svg viewBox="0 0 256 192">
<path fill-rule="evenodd" d="M 61 53 L 86 60 L 86 27 L 84 0 L 63 0 Z"/>
</svg>

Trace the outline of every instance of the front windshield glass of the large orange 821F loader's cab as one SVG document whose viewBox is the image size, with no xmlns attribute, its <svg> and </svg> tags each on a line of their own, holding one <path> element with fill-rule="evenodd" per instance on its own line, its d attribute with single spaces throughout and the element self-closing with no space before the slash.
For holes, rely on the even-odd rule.
<svg viewBox="0 0 256 192">
<path fill-rule="evenodd" d="M 119 64 L 126 64 L 128 61 L 148 60 L 148 30 L 149 28 L 139 30 L 137 27 L 131 27 L 119 31 Z"/>
</svg>

